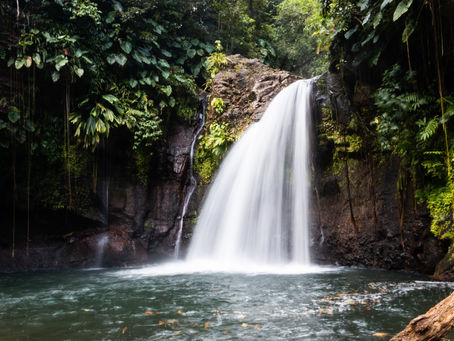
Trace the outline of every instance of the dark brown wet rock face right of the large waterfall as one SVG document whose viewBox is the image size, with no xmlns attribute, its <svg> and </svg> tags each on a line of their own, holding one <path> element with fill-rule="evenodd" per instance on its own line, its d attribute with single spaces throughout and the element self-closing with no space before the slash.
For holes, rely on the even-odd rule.
<svg viewBox="0 0 454 341">
<path fill-rule="evenodd" d="M 346 127 L 353 110 L 371 108 L 369 89 L 358 86 L 347 95 L 345 88 L 340 77 L 328 74 L 319 79 L 314 94 L 314 121 L 319 129 L 313 160 L 314 258 L 433 274 L 447 246 L 430 232 L 429 212 L 413 200 L 411 183 L 404 192 L 397 192 L 399 160 L 366 153 L 340 160 L 337 170 L 333 167 L 334 146 L 320 122 L 335 112 L 338 124 Z"/>
</svg>

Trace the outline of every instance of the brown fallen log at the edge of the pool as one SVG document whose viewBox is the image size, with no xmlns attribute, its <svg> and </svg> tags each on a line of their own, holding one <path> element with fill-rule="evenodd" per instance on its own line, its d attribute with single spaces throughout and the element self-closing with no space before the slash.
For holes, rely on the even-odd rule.
<svg viewBox="0 0 454 341">
<path fill-rule="evenodd" d="M 390 341 L 436 341 L 454 326 L 454 292 L 430 310 L 411 320 Z"/>
</svg>

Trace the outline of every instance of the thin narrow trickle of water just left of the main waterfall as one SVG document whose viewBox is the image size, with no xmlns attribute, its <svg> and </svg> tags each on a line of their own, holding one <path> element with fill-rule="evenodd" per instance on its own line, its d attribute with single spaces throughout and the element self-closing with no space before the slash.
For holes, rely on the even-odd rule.
<svg viewBox="0 0 454 341">
<path fill-rule="evenodd" d="M 186 211 L 188 209 L 189 201 L 191 200 L 192 194 L 194 194 L 195 189 L 197 188 L 197 180 L 194 177 L 194 149 L 197 142 L 197 138 L 199 137 L 200 133 L 202 132 L 203 127 L 205 126 L 205 119 L 206 119 L 206 106 L 207 106 L 207 99 L 204 98 L 202 100 L 202 110 L 198 113 L 199 120 L 201 120 L 200 126 L 194 134 L 192 139 L 191 148 L 189 152 L 189 186 L 188 191 L 186 192 L 186 196 L 183 202 L 183 209 L 181 210 L 180 220 L 178 224 L 178 233 L 177 238 L 175 241 L 175 251 L 174 256 L 178 258 L 180 256 L 180 249 L 181 249 L 181 239 L 183 235 L 183 224 L 184 224 L 184 217 L 186 216 Z"/>
</svg>

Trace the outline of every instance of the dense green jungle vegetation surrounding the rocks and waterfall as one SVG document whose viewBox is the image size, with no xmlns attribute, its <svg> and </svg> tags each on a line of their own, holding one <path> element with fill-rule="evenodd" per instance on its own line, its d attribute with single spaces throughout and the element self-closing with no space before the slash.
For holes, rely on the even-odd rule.
<svg viewBox="0 0 454 341">
<path fill-rule="evenodd" d="M 350 94 L 370 87 L 370 106 L 336 129 L 372 162 L 397 155 L 398 193 L 412 187 L 433 233 L 454 240 L 452 13 L 448 0 L 2 1 L 3 239 L 14 256 L 19 218 L 28 241 L 31 211 L 88 210 L 115 139 L 146 183 L 170 122 L 194 120 L 199 94 L 240 53 L 304 77 L 329 68 Z M 231 142 L 221 130 L 203 144 L 217 156 Z"/>
</svg>

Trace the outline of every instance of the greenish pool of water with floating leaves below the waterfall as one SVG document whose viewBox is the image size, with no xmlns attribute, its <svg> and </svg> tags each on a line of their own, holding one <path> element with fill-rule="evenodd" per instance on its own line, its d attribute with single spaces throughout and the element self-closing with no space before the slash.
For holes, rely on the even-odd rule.
<svg viewBox="0 0 454 341">
<path fill-rule="evenodd" d="M 0 340 L 383 340 L 374 334 L 395 334 L 454 290 L 378 270 L 183 269 L 0 275 Z"/>
</svg>

